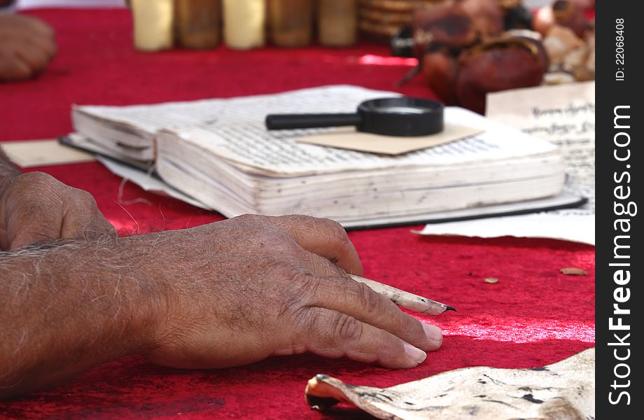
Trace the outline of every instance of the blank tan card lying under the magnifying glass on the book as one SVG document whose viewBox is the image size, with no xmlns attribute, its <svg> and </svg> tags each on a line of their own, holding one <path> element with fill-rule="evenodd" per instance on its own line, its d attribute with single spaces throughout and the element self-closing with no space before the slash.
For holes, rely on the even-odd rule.
<svg viewBox="0 0 644 420">
<path fill-rule="evenodd" d="M 317 144 L 352 151 L 381 153 L 383 155 L 400 155 L 423 148 L 439 146 L 450 141 L 471 137 L 479 134 L 477 130 L 465 125 L 447 124 L 440 133 L 421 137 L 392 137 L 378 134 L 358 132 L 353 127 L 343 127 L 321 134 L 301 137 L 298 143 Z"/>
</svg>

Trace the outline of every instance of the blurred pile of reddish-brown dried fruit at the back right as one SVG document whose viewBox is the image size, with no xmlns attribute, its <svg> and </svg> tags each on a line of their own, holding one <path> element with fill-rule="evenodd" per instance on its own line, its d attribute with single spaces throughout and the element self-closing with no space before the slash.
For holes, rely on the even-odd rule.
<svg viewBox="0 0 644 420">
<path fill-rule="evenodd" d="M 504 15 L 521 18 L 521 0 L 444 0 L 417 8 L 412 26 L 419 66 L 399 85 L 421 71 L 442 102 L 484 113 L 490 92 L 593 80 L 594 23 L 584 15 L 591 3 L 555 0 L 535 16 L 535 30 L 527 29 L 528 13 L 525 22 L 510 25 L 526 29 L 505 33 Z"/>
</svg>

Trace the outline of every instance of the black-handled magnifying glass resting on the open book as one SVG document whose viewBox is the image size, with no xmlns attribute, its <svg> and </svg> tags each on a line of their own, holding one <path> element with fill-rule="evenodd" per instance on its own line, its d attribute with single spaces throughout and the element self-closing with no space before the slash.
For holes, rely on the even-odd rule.
<svg viewBox="0 0 644 420">
<path fill-rule="evenodd" d="M 356 113 L 270 114 L 268 130 L 356 126 L 356 130 L 383 136 L 427 136 L 443 130 L 444 105 L 420 98 L 371 99 Z"/>
</svg>

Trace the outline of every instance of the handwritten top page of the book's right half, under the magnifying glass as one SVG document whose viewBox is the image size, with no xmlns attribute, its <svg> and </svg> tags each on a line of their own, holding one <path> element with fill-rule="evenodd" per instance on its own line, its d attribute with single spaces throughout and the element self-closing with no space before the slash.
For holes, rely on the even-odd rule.
<svg viewBox="0 0 644 420">
<path fill-rule="evenodd" d="M 387 167 L 421 167 L 427 165 L 466 165 L 468 162 L 510 159 L 526 154 L 552 153 L 555 146 L 486 120 L 471 111 L 456 107 L 445 109 L 447 124 L 465 125 L 482 131 L 466 139 L 414 151 L 400 156 L 381 156 L 358 151 L 339 150 L 310 144 L 297 139 L 322 129 L 268 132 L 253 120 L 239 125 L 212 124 L 200 127 L 162 130 L 179 137 L 186 144 L 201 148 L 235 164 L 246 165 L 249 172 L 275 176 L 321 174 L 351 169 Z M 526 138 L 526 141 L 524 140 Z M 159 148 L 172 150 L 172 141 L 162 141 Z"/>
</svg>

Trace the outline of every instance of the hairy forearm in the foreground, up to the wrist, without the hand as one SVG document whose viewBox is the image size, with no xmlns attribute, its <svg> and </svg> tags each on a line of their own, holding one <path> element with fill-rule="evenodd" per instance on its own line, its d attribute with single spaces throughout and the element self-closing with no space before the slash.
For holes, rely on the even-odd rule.
<svg viewBox="0 0 644 420">
<path fill-rule="evenodd" d="M 161 236 L 0 254 L 0 398 L 153 346 L 163 285 L 146 260 Z"/>
</svg>

